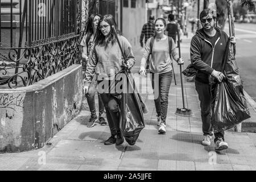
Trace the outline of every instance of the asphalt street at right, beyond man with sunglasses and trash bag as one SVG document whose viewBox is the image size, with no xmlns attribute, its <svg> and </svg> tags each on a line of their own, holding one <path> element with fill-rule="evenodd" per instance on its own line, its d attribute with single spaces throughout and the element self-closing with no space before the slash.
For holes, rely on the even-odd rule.
<svg viewBox="0 0 256 182">
<path fill-rule="evenodd" d="M 229 35 L 228 23 L 225 25 L 225 32 Z M 235 23 L 236 60 L 241 71 L 243 88 L 256 101 L 256 24 Z"/>
</svg>

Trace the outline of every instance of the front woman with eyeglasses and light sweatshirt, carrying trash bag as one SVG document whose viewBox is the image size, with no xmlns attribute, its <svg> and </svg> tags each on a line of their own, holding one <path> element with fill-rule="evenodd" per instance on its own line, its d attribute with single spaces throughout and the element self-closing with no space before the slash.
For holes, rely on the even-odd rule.
<svg viewBox="0 0 256 182">
<path fill-rule="evenodd" d="M 128 40 L 118 35 L 123 52 L 127 59 L 127 64 L 123 63 L 123 56 L 115 39 L 113 28 L 116 23 L 112 15 L 105 15 L 99 20 L 99 26 L 96 31 L 94 48 L 89 57 L 89 62 L 85 72 L 84 90 L 88 90 L 88 86 L 93 78 L 94 73 L 98 78 L 98 92 L 101 94 L 106 109 L 106 117 L 108 119 L 111 137 L 104 144 L 122 144 L 124 142 L 123 134 L 119 128 L 119 100 L 109 92 L 109 85 L 114 79 L 116 73 L 121 70 L 121 66 L 130 69 L 135 63 L 135 57 Z"/>
</svg>

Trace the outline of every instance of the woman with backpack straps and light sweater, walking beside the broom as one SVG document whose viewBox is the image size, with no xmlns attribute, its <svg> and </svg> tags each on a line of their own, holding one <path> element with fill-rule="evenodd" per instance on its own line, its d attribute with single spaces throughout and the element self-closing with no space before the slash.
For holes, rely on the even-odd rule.
<svg viewBox="0 0 256 182">
<path fill-rule="evenodd" d="M 141 59 L 140 73 L 146 76 L 145 64 L 150 53 L 151 83 L 155 96 L 155 107 L 158 118 L 159 133 L 166 133 L 166 115 L 168 110 L 168 94 L 172 81 L 172 60 L 171 56 L 178 64 L 183 64 L 183 58 L 179 59 L 179 53 L 171 37 L 164 35 L 166 20 L 158 18 L 155 21 L 156 35 L 148 39 Z M 171 40 L 171 45 L 169 41 Z M 153 43 L 153 45 L 152 45 Z M 170 48 L 171 46 L 171 55 Z"/>
</svg>

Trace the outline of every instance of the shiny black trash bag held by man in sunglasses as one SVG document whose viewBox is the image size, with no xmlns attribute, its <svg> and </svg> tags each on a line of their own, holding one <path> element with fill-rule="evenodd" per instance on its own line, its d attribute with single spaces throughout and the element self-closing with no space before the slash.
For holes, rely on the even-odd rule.
<svg viewBox="0 0 256 182">
<path fill-rule="evenodd" d="M 229 39 L 221 68 L 226 80 L 217 84 L 214 93 L 212 118 L 214 131 L 228 130 L 250 118 L 234 50 L 234 45 Z"/>
</svg>

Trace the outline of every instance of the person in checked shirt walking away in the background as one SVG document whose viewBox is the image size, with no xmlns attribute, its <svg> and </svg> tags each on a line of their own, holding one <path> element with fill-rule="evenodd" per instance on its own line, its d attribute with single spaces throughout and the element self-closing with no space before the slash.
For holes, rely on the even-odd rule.
<svg viewBox="0 0 256 182">
<path fill-rule="evenodd" d="M 155 33 L 154 20 L 155 20 L 155 16 L 150 15 L 148 22 L 145 23 L 142 27 L 141 39 L 140 39 L 141 47 L 143 47 L 143 39 L 144 39 L 144 43 L 146 44 L 147 40 L 151 38 L 151 36 L 154 36 L 154 33 Z M 148 57 L 146 69 L 148 69 L 149 61 L 150 61 L 150 57 Z"/>
</svg>

